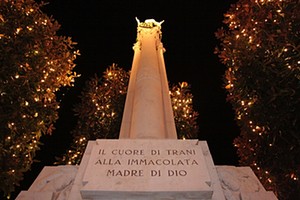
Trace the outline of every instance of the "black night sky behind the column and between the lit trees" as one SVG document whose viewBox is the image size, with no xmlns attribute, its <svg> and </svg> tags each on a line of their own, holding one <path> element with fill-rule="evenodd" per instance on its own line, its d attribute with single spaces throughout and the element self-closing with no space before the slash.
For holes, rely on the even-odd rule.
<svg viewBox="0 0 300 200">
<path fill-rule="evenodd" d="M 75 71 L 81 74 L 75 87 L 64 90 L 60 118 L 52 136 L 44 136 L 37 159 L 18 189 L 27 190 L 43 166 L 52 165 L 69 147 L 75 125 L 72 108 L 84 81 L 102 75 L 112 63 L 129 70 L 133 59 L 137 22 L 164 20 L 162 42 L 168 80 L 191 84 L 194 109 L 199 112 L 199 138 L 208 142 L 217 165 L 237 165 L 233 139 L 239 134 L 231 105 L 226 102 L 222 76 L 225 66 L 214 48 L 214 33 L 223 14 L 237 0 L 49 0 L 42 9 L 61 24 L 58 34 L 72 37 L 81 56 Z"/>
</svg>

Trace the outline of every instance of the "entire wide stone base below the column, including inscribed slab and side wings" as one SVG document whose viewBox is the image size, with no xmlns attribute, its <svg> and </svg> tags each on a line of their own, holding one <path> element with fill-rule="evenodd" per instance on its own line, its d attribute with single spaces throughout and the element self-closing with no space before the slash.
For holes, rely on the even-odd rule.
<svg viewBox="0 0 300 200">
<path fill-rule="evenodd" d="M 44 196 L 43 196 L 44 194 Z M 198 140 L 89 141 L 80 166 L 45 167 L 18 200 L 276 199 L 249 167 L 215 166 Z"/>
</svg>

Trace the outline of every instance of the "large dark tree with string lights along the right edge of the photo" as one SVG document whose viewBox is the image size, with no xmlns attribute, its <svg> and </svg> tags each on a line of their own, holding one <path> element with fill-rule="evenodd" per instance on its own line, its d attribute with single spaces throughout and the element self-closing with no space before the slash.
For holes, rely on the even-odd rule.
<svg viewBox="0 0 300 200">
<path fill-rule="evenodd" d="M 216 33 L 241 165 L 279 199 L 300 198 L 300 3 L 239 0 Z"/>
</svg>

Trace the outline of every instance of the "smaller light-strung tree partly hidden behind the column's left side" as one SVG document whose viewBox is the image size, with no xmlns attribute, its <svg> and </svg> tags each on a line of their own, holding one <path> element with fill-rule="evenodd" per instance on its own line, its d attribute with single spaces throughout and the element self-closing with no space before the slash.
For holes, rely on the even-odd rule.
<svg viewBox="0 0 300 200">
<path fill-rule="evenodd" d="M 81 102 L 74 107 L 78 121 L 73 144 L 58 163 L 79 164 L 88 140 L 119 136 L 128 81 L 129 73 L 113 64 L 102 79 L 95 76 L 86 82 Z"/>
</svg>

